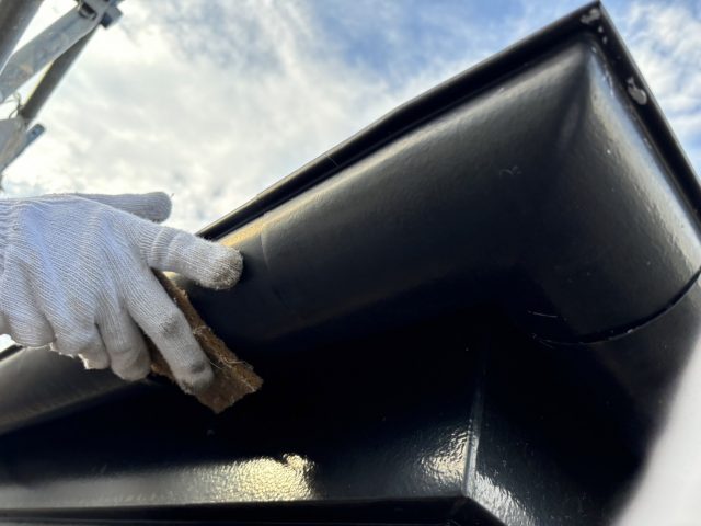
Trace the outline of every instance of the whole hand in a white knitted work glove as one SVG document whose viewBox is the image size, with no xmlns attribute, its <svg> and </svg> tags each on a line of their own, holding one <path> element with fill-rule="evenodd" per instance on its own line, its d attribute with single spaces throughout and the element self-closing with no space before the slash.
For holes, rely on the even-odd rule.
<svg viewBox="0 0 701 526">
<path fill-rule="evenodd" d="M 160 192 L 0 199 L 0 332 L 136 380 L 150 366 L 140 327 L 184 390 L 207 386 L 209 362 L 151 267 L 220 289 L 243 263 L 235 249 L 153 222 L 170 210 Z"/>
</svg>

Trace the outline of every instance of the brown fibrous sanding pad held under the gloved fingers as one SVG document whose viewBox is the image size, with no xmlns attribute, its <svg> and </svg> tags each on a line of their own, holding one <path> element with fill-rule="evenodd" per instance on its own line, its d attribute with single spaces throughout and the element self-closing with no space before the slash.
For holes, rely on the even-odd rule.
<svg viewBox="0 0 701 526">
<path fill-rule="evenodd" d="M 211 364 L 215 379 L 204 391 L 194 395 L 197 400 L 220 413 L 244 396 L 257 391 L 263 380 L 245 362 L 240 361 L 235 354 L 211 331 L 203 321 L 187 298 L 185 290 L 175 285 L 162 272 L 153 271 L 168 295 L 173 298 L 175 305 L 183 311 L 193 334 L 199 343 Z M 149 353 L 151 354 L 151 371 L 174 380 L 168 363 L 156 345 L 147 338 Z"/>
</svg>

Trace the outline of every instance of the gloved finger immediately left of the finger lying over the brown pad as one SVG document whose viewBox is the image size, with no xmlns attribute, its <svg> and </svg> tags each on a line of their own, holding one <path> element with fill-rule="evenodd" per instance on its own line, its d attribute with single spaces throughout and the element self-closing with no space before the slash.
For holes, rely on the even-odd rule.
<svg viewBox="0 0 701 526">
<path fill-rule="evenodd" d="M 140 380 L 151 370 L 151 357 L 141 331 L 126 309 L 113 309 L 97 322 L 112 370 L 125 380 Z"/>
</svg>

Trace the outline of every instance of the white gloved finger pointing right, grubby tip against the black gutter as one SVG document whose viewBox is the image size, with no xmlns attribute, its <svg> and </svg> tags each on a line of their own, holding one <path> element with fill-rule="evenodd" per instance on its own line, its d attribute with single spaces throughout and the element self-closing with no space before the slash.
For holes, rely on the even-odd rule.
<svg viewBox="0 0 701 526">
<path fill-rule="evenodd" d="M 149 266 L 173 271 L 209 288 L 229 288 L 243 270 L 241 253 L 171 227 L 148 225 L 139 248 Z"/>
</svg>

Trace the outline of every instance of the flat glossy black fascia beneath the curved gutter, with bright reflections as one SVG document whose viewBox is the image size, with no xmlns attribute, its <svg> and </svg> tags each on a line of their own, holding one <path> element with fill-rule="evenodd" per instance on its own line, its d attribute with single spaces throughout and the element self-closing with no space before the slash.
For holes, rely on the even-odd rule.
<svg viewBox="0 0 701 526">
<path fill-rule="evenodd" d="M 550 353 L 482 308 L 263 362 L 266 388 L 218 418 L 174 390 L 135 393 L 0 438 L 0 503 L 336 522 L 467 522 L 482 505 L 507 524 L 593 524 L 634 458 Z"/>
</svg>

